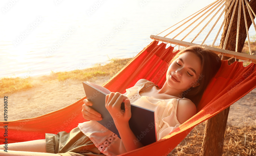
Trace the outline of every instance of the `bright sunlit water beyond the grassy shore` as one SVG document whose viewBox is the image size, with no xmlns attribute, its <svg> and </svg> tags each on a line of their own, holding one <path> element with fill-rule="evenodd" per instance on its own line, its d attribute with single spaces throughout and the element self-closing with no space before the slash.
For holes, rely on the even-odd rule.
<svg viewBox="0 0 256 156">
<path fill-rule="evenodd" d="M 0 77 L 46 75 L 104 64 L 112 58 L 134 57 L 153 41 L 150 35 L 157 35 L 211 2 L 1 1 Z M 212 25 L 196 43 L 202 42 Z M 195 35 L 185 41 L 190 42 Z M 214 37 L 210 35 L 205 44 L 211 45 Z"/>
</svg>

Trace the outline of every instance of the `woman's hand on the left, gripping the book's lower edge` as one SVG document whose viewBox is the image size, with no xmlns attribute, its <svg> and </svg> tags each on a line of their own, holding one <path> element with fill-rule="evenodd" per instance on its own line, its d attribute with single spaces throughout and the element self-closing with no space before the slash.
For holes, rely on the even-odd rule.
<svg viewBox="0 0 256 156">
<path fill-rule="evenodd" d="M 88 101 L 87 99 L 84 99 L 83 102 L 84 102 L 83 110 L 82 110 L 83 118 L 85 118 L 86 120 L 96 120 L 96 121 L 102 120 L 101 114 L 90 107 L 92 106 L 92 103 L 90 101 Z"/>
</svg>

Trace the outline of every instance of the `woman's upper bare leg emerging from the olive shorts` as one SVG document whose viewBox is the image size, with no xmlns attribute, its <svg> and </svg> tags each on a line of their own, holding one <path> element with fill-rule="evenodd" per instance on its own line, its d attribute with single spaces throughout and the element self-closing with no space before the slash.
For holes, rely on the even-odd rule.
<svg viewBox="0 0 256 156">
<path fill-rule="evenodd" d="M 4 145 L 0 145 L 0 149 L 5 150 Z M 9 150 L 46 153 L 45 139 L 9 143 L 7 151 Z"/>
</svg>

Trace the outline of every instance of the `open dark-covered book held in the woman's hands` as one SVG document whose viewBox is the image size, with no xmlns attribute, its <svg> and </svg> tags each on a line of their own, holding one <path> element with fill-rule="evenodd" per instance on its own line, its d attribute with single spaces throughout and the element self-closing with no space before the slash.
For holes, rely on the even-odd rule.
<svg viewBox="0 0 256 156">
<path fill-rule="evenodd" d="M 120 138 L 114 120 L 105 107 L 105 96 L 108 95 L 110 91 L 90 82 L 83 82 L 83 87 L 87 99 L 92 102 L 92 106 L 90 107 L 99 112 L 102 116 L 102 120 L 97 122 L 108 128 Z M 121 109 L 124 110 L 124 103 L 121 104 Z M 157 137 L 154 111 L 131 104 L 131 113 L 132 117 L 129 120 L 129 125 L 137 138 L 137 140 L 134 140 L 134 143 L 140 141 L 146 146 L 156 142 Z"/>
</svg>

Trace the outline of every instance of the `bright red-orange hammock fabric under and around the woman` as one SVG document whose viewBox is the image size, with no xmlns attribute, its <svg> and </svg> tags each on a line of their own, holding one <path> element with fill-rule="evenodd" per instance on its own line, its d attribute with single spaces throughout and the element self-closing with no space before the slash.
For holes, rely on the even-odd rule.
<svg viewBox="0 0 256 156">
<path fill-rule="evenodd" d="M 172 52 L 173 47 L 165 47 L 165 43 L 158 44 L 158 41 L 154 40 L 103 86 L 112 92 L 124 93 L 126 88 L 132 87 L 138 80 L 147 79 L 161 87 L 166 80 L 167 64 L 177 53 Z M 255 86 L 254 63 L 244 67 L 242 62 L 236 61 L 228 65 L 227 61 L 222 61 L 221 68 L 208 85 L 195 116 L 163 139 L 122 155 L 167 155 L 196 125 L 226 109 Z M 39 117 L 7 121 L 8 124 L 1 121 L 0 142 L 3 143 L 5 138 L 8 143 L 44 139 L 45 133 L 69 132 L 77 127 L 78 123 L 86 121 L 81 113 L 85 98 Z M 7 137 L 3 137 L 5 125 L 8 127 Z"/>
</svg>

